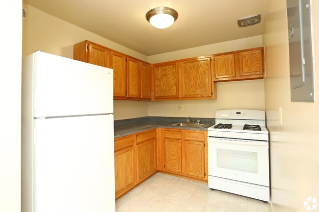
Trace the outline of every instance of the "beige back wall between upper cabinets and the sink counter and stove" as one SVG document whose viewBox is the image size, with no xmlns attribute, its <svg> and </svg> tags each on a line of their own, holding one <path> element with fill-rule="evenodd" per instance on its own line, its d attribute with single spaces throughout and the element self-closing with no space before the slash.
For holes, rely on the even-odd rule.
<svg viewBox="0 0 319 212">
<path fill-rule="evenodd" d="M 149 116 L 215 118 L 216 110 L 265 110 L 264 80 L 217 83 L 217 99 L 148 103 Z M 184 105 L 179 111 L 178 105 Z"/>
</svg>

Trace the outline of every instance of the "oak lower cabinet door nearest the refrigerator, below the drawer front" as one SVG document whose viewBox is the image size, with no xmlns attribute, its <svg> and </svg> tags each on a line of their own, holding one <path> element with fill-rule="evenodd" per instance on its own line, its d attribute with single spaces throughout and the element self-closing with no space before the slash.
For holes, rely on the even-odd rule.
<svg viewBox="0 0 319 212">
<path fill-rule="evenodd" d="M 115 196 L 134 186 L 134 153 L 133 146 L 114 153 Z"/>
</svg>

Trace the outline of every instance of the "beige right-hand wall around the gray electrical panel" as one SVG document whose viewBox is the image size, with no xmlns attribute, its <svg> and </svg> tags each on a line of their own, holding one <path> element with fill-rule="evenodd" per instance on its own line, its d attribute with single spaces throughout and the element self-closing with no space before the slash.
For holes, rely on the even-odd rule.
<svg viewBox="0 0 319 212">
<path fill-rule="evenodd" d="M 268 0 L 266 10 L 263 44 L 266 47 L 266 117 L 274 212 L 305 212 L 305 198 L 319 199 L 319 76 L 316 74 L 319 71 L 319 2 L 312 0 L 311 3 L 317 85 L 314 103 L 290 101 L 286 1 Z M 282 107 L 282 125 L 279 107 Z"/>
</svg>

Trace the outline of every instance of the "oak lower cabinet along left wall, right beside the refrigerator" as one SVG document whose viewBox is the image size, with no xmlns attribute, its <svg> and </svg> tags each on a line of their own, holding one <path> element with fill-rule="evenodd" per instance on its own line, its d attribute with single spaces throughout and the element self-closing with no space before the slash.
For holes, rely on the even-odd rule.
<svg viewBox="0 0 319 212">
<path fill-rule="evenodd" d="M 157 129 L 114 140 L 115 198 L 157 171 Z"/>
</svg>

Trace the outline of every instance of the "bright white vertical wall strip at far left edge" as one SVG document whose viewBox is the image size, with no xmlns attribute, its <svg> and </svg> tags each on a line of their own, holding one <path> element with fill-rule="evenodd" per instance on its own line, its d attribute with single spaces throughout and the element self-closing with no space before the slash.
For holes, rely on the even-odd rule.
<svg viewBox="0 0 319 212">
<path fill-rule="evenodd" d="M 22 1 L 1 5 L 0 212 L 20 212 Z"/>
</svg>

